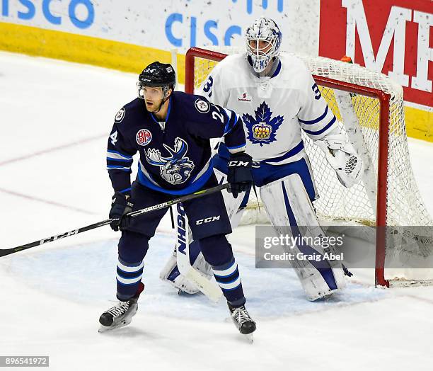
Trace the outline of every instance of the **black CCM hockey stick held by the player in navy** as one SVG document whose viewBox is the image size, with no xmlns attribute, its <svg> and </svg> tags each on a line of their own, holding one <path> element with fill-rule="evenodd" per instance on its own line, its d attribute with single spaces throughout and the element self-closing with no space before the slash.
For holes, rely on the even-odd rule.
<svg viewBox="0 0 433 371">
<path fill-rule="evenodd" d="M 218 192 L 219 190 L 223 190 L 226 188 L 229 188 L 229 183 L 221 184 L 219 186 L 207 188 L 204 190 L 199 190 L 199 191 L 192 193 L 190 195 L 185 195 L 185 196 L 182 196 L 180 198 L 175 198 L 174 200 L 162 202 L 158 205 L 153 205 L 153 206 L 145 207 L 144 209 L 141 209 L 141 210 L 129 212 L 126 216 L 127 217 L 137 217 L 139 215 L 145 214 L 146 212 L 151 212 L 154 210 L 160 210 L 160 209 L 163 209 L 165 207 L 170 207 L 171 205 L 175 205 L 179 202 L 185 202 L 185 201 L 193 200 L 195 198 L 199 198 L 199 197 L 202 197 L 204 195 L 208 195 L 210 193 L 215 193 L 215 192 Z M 64 239 L 64 238 L 69 237 L 69 236 L 74 236 L 75 234 L 90 231 L 91 229 L 103 227 L 104 225 L 110 224 L 111 222 L 112 222 L 112 219 L 106 219 L 106 220 L 103 220 L 102 222 L 90 224 L 86 227 L 81 227 L 79 229 L 73 229 L 72 231 L 65 232 L 62 234 L 57 234 L 56 236 L 50 236 L 50 237 L 47 237 L 46 239 L 41 239 L 39 241 L 30 242 L 30 244 L 25 244 L 25 245 L 13 247 L 12 249 L 0 249 L 0 257 L 10 255 L 11 253 L 17 253 L 18 251 L 27 250 L 27 249 L 30 249 L 31 247 L 47 244 L 48 242 L 57 241 L 58 239 Z"/>
</svg>

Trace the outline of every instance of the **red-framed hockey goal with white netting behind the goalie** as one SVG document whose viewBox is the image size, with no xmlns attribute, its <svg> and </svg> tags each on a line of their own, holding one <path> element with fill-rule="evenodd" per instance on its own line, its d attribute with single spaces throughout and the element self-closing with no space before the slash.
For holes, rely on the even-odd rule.
<svg viewBox="0 0 433 371">
<path fill-rule="evenodd" d="M 219 48 L 219 51 L 214 51 L 192 47 L 188 50 L 185 92 L 194 93 L 207 80 L 214 66 L 233 52 L 239 52 L 239 49 Z M 388 76 L 356 64 L 323 57 L 296 57 L 310 69 L 323 98 L 354 144 L 366 168 L 361 183 L 345 188 L 337 180 L 322 150 L 302 133 L 306 153 L 316 174 L 319 198 L 314 202 L 314 207 L 319 219 L 377 227 L 432 226 L 432 218 L 422 202 L 410 166 L 403 88 Z M 257 202 L 254 205 L 251 200 L 249 204 L 252 205 L 248 208 L 257 212 Z M 250 217 L 249 222 L 262 220 Z M 412 237 L 418 241 L 417 236 Z M 389 287 L 390 281 L 395 283 L 403 280 L 411 284 L 431 284 L 431 280 L 425 280 L 425 272 L 422 278 L 412 278 L 408 270 L 396 273 L 395 278 L 398 280 L 386 280 L 384 228 L 376 228 L 374 238 L 376 285 Z M 432 244 L 423 244 L 418 251 L 412 249 L 410 253 L 417 258 L 431 258 Z M 432 271 L 427 270 L 427 275 L 427 278 L 432 278 Z"/>
</svg>

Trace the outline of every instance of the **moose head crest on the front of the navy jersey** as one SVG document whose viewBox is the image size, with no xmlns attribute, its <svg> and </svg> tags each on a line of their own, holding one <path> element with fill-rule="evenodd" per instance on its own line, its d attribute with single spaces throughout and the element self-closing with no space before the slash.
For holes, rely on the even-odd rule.
<svg viewBox="0 0 433 371">
<path fill-rule="evenodd" d="M 175 139 L 174 149 L 163 144 L 164 148 L 170 154 L 170 157 L 161 156 L 159 149 L 149 149 L 144 154 L 149 164 L 160 167 L 161 177 L 164 181 L 173 185 L 182 184 L 190 177 L 194 164 L 185 156 L 188 151 L 188 145 L 182 138 Z"/>
</svg>

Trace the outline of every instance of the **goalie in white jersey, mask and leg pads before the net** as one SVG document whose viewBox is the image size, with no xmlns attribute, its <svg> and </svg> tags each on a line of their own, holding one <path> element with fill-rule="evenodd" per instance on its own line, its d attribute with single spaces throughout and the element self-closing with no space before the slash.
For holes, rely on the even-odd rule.
<svg viewBox="0 0 433 371">
<path fill-rule="evenodd" d="M 312 203 L 318 194 L 301 130 L 323 149 L 343 186 L 359 182 L 362 161 L 304 63 L 279 52 L 281 40 L 282 33 L 274 21 L 258 18 L 246 30 L 246 53 L 229 55 L 219 62 L 200 94 L 243 118 L 246 152 L 254 161 L 253 180 L 255 186 L 260 187 L 260 197 L 277 235 L 296 236 L 300 234 L 299 226 L 308 226 L 308 236 L 324 236 Z M 221 143 L 214 156 L 220 181 L 226 177 L 228 161 L 229 151 Z M 236 197 L 236 193 L 224 192 L 232 227 L 236 227 L 246 200 L 248 195 Z M 311 252 L 311 246 L 299 245 L 296 249 Z M 314 249 L 320 254 L 328 252 L 322 247 Z M 191 244 L 192 250 L 194 244 Z M 194 266 L 203 272 L 206 266 L 202 265 L 200 257 Z M 345 285 L 344 271 L 347 270 L 339 261 L 328 261 L 325 269 L 314 261 L 291 263 L 308 299 L 328 296 Z M 197 291 L 178 275 L 174 257 L 161 278 L 186 292 Z"/>
</svg>

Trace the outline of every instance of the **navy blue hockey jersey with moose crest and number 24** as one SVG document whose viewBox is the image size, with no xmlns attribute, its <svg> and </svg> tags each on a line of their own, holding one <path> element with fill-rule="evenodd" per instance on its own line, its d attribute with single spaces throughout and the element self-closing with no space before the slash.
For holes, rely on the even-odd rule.
<svg viewBox="0 0 433 371">
<path fill-rule="evenodd" d="M 122 193 L 130 190 L 132 156 L 139 152 L 139 183 L 173 195 L 193 193 L 212 175 L 209 139 L 218 137 L 224 137 L 232 153 L 245 149 L 241 118 L 232 110 L 175 91 L 166 121 L 158 122 L 144 100 L 136 98 L 117 113 L 108 138 L 112 187 Z"/>
</svg>

